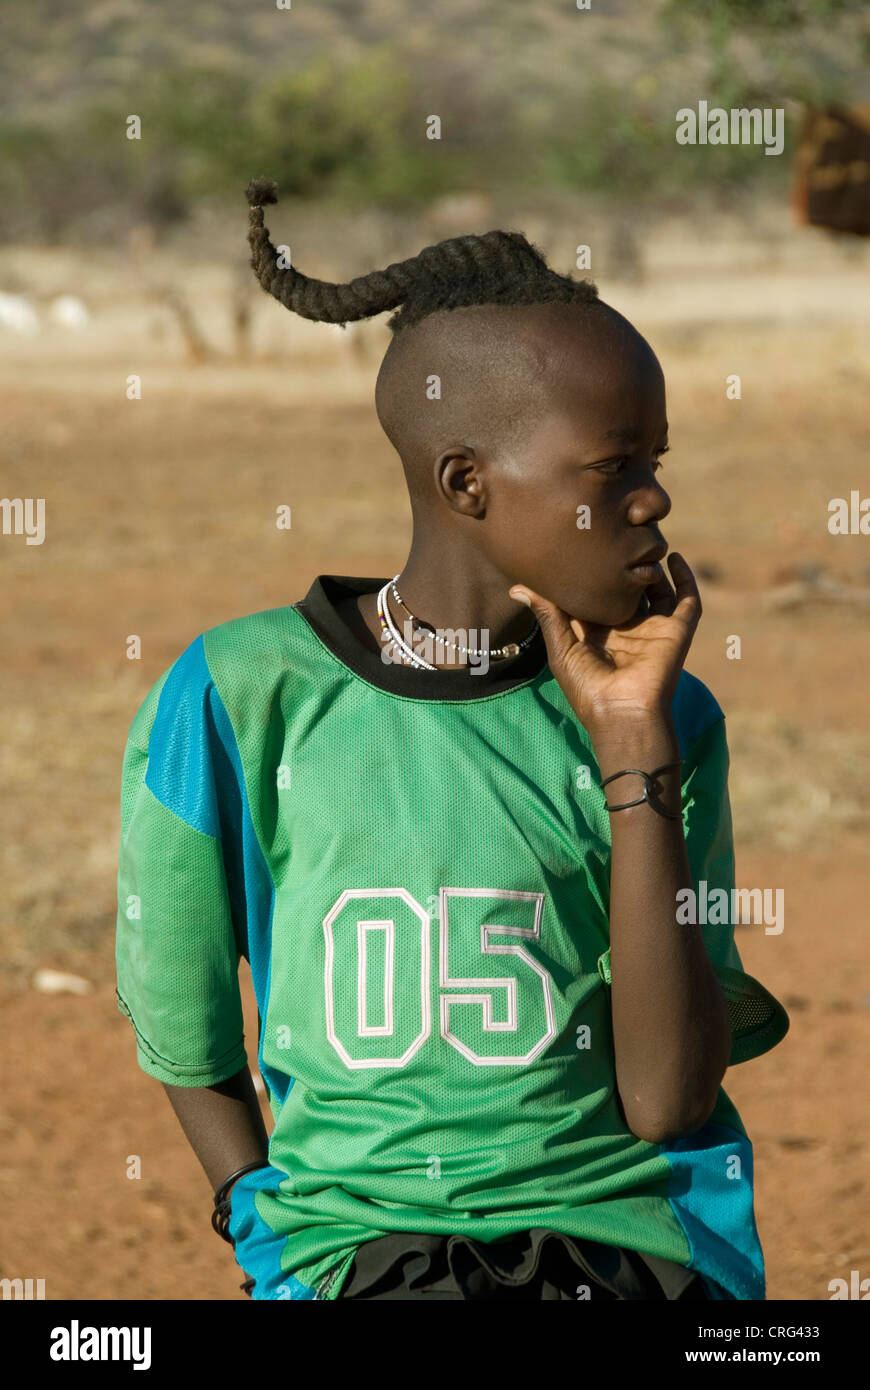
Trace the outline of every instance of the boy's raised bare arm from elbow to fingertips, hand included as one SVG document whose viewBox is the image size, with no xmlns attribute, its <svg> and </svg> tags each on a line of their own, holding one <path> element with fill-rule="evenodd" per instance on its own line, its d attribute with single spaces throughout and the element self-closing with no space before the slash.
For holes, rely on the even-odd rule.
<svg viewBox="0 0 870 1390">
<path fill-rule="evenodd" d="M 617 627 L 582 623 L 528 585 L 549 666 L 585 727 L 602 778 L 680 759 L 673 696 L 700 617 L 689 566 L 671 553 L 646 612 Z M 609 806 L 638 796 L 637 774 L 609 783 Z M 660 815 L 642 801 L 610 816 L 610 1001 L 616 1079 L 628 1127 L 649 1143 L 700 1129 L 731 1054 L 731 1022 L 699 926 L 677 922 L 692 888 L 678 767 L 659 773 Z M 670 819 L 670 817 L 674 819 Z"/>
</svg>

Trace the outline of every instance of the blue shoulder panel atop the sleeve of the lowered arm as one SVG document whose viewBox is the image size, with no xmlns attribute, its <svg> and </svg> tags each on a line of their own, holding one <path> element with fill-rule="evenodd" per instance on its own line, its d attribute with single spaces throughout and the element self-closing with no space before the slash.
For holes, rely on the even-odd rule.
<svg viewBox="0 0 870 1390">
<path fill-rule="evenodd" d="M 197 637 L 167 676 L 149 741 L 145 785 L 168 810 L 200 830 L 220 835 L 206 699 L 211 671 Z"/>
</svg>

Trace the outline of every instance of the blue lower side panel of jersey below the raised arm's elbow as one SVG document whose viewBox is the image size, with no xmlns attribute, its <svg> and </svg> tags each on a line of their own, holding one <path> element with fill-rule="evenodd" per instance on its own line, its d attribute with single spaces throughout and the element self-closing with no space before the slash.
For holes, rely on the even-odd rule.
<svg viewBox="0 0 870 1390">
<path fill-rule="evenodd" d="M 671 1166 L 668 1201 L 689 1243 L 688 1268 L 719 1284 L 720 1298 L 764 1298 L 749 1140 L 709 1120 L 659 1152 Z M 730 1177 L 735 1156 L 739 1175 Z"/>
</svg>

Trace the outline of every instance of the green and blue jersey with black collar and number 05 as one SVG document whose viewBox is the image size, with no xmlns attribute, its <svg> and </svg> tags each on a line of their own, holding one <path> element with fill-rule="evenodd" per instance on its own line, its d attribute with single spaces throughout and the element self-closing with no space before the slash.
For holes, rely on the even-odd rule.
<svg viewBox="0 0 870 1390">
<path fill-rule="evenodd" d="M 274 1115 L 268 1166 L 232 1190 L 253 1297 L 334 1298 L 391 1232 L 546 1227 L 763 1298 L 752 1147 L 724 1090 L 671 1143 L 621 1113 L 607 798 L 543 638 L 477 673 L 389 664 L 336 610 L 382 582 L 320 575 L 204 632 L 124 759 L 118 1005 L 145 1072 L 213 1086 L 246 1065 L 250 962 Z M 673 717 L 693 885 L 730 894 L 724 716 L 684 671 Z M 787 1015 L 732 924 L 702 931 L 731 1062 L 757 1056 Z"/>
</svg>

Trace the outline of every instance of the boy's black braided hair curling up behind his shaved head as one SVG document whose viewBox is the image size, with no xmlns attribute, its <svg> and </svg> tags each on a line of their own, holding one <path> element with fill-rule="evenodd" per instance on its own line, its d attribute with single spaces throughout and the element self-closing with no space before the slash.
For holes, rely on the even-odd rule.
<svg viewBox="0 0 870 1390">
<path fill-rule="evenodd" d="M 393 261 L 346 285 L 311 279 L 292 267 L 282 270 L 278 265 L 278 252 L 263 220 L 264 206 L 278 202 L 277 185 L 271 179 L 254 179 L 245 196 L 250 204 L 250 264 L 257 279 L 268 295 L 303 318 L 346 324 L 402 306 L 388 320 L 395 334 L 442 309 L 600 303 L 592 281 L 557 275 L 521 232 L 452 236 L 424 247 L 410 260 Z"/>
</svg>

